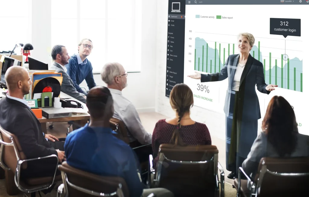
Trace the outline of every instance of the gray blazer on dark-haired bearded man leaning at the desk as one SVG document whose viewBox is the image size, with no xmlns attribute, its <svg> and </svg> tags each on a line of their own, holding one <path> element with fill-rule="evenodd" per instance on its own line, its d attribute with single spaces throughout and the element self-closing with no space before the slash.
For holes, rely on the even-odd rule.
<svg viewBox="0 0 309 197">
<path fill-rule="evenodd" d="M 56 70 L 58 73 L 62 73 L 61 92 L 64 92 L 69 96 L 76 98 L 83 103 L 86 103 L 86 98 L 84 97 L 85 94 L 76 91 L 72 79 L 57 62 L 53 62 L 49 70 Z"/>
</svg>

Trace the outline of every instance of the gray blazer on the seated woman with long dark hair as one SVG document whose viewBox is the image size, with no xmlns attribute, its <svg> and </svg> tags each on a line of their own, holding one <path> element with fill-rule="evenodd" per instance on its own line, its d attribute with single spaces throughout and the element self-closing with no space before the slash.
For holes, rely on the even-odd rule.
<svg viewBox="0 0 309 197">
<path fill-rule="evenodd" d="M 297 144 L 294 152 L 289 157 L 306 157 L 309 156 L 309 136 L 297 133 Z M 247 159 L 243 161 L 243 170 L 247 175 L 252 173 L 251 177 L 255 177 L 260 160 L 263 157 L 279 157 L 272 144 L 267 141 L 265 132 L 261 132 L 254 143 Z"/>
</svg>

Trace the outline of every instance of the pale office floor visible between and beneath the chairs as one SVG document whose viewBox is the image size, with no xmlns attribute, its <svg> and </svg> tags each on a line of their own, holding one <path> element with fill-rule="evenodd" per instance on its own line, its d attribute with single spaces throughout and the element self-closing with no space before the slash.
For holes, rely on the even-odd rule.
<svg viewBox="0 0 309 197">
<path fill-rule="evenodd" d="M 168 118 L 167 116 L 164 116 L 159 113 L 155 112 L 150 112 L 150 113 L 140 113 L 140 118 L 142 121 L 143 126 L 145 127 L 146 131 L 149 133 L 153 132 L 153 128 L 155 127 L 155 124 L 157 123 L 158 120 L 160 119 L 165 119 Z M 52 134 L 56 136 L 57 138 L 60 137 L 66 137 L 66 132 L 67 132 L 67 127 L 69 126 L 67 123 L 53 123 L 54 127 L 52 130 L 47 128 L 47 133 Z M 49 124 L 47 124 L 47 127 Z M 70 129 L 71 131 L 72 129 Z M 211 131 L 210 131 L 211 135 Z M 214 135 L 211 135 L 211 141 L 212 144 L 217 146 L 219 150 L 219 162 L 221 163 L 224 171 L 225 171 L 225 196 L 230 197 L 230 196 L 236 196 L 236 190 L 232 188 L 233 180 L 228 179 L 226 176 L 230 173 L 229 171 L 226 171 L 225 169 L 225 141 L 222 139 L 219 139 L 215 137 Z M 57 187 L 55 187 L 57 188 Z M 6 194 L 6 189 L 5 189 L 5 184 L 4 184 L 4 179 L 0 180 L 0 196 L 1 197 L 9 197 L 9 195 Z M 22 197 L 22 194 L 19 195 L 14 195 L 15 197 Z M 39 195 L 37 195 L 39 196 Z M 50 194 L 44 195 L 42 194 L 42 197 L 49 197 L 49 196 L 57 196 L 56 195 L 56 190 L 51 192 Z"/>
</svg>

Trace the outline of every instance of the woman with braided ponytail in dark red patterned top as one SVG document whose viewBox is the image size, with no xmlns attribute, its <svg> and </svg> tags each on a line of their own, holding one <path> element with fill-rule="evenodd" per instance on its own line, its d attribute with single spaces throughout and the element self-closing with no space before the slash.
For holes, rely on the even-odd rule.
<svg viewBox="0 0 309 197">
<path fill-rule="evenodd" d="M 159 120 L 152 133 L 154 167 L 159 159 L 158 152 L 161 144 L 211 145 L 206 125 L 197 123 L 190 118 L 193 93 L 186 84 L 180 83 L 173 87 L 170 94 L 170 104 L 176 112 L 175 118 Z"/>
</svg>

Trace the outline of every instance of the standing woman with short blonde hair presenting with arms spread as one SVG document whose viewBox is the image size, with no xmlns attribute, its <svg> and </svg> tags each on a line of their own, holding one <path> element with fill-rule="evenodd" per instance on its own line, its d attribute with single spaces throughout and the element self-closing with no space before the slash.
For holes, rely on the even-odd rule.
<svg viewBox="0 0 309 197">
<path fill-rule="evenodd" d="M 237 169 L 247 157 L 257 136 L 257 120 L 261 118 L 261 113 L 256 87 L 264 94 L 269 94 L 277 87 L 265 83 L 262 62 L 251 56 L 250 51 L 254 42 L 252 34 L 240 33 L 235 45 L 239 54 L 229 55 L 220 72 L 212 74 L 196 72 L 188 75 L 200 79 L 201 82 L 222 81 L 226 78 L 228 80 L 223 111 L 226 114 L 226 170 L 231 171 L 227 175 L 229 179 L 236 176 Z M 258 59 L 262 59 L 260 53 L 257 56 L 260 56 Z"/>
</svg>

